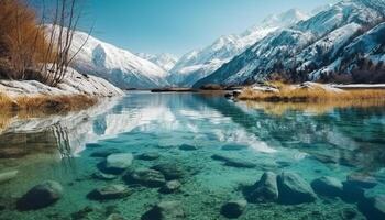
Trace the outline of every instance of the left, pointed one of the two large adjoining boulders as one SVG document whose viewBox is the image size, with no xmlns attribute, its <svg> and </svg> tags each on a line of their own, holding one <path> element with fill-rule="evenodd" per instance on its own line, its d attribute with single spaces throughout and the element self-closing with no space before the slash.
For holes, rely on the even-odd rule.
<svg viewBox="0 0 385 220">
<path fill-rule="evenodd" d="M 255 183 L 248 200 L 251 202 L 268 202 L 278 200 L 277 175 L 273 172 L 266 172 L 262 175 L 260 182 Z"/>
</svg>

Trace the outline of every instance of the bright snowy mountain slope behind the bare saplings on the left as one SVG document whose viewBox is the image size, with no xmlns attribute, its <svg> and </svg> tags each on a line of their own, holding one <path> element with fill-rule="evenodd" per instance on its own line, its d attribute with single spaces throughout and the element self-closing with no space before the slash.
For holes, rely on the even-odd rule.
<svg viewBox="0 0 385 220">
<path fill-rule="evenodd" d="M 76 31 L 70 53 L 75 54 L 81 48 L 87 37 L 87 33 Z M 70 66 L 79 73 L 102 77 L 120 88 L 157 88 L 167 85 L 167 72 L 160 66 L 92 36 L 89 36 Z"/>
</svg>

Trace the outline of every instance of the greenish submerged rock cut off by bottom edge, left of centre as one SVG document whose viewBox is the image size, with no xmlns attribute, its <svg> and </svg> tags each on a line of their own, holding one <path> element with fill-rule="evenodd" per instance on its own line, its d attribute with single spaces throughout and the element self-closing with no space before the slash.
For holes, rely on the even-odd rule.
<svg viewBox="0 0 385 220">
<path fill-rule="evenodd" d="M 179 201 L 161 201 L 142 216 L 142 220 L 179 220 L 186 215 Z"/>
</svg>

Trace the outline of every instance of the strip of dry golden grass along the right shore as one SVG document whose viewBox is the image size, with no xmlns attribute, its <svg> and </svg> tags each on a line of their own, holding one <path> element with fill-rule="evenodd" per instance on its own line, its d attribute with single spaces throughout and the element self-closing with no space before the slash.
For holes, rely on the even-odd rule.
<svg viewBox="0 0 385 220">
<path fill-rule="evenodd" d="M 351 89 L 332 91 L 320 86 L 314 88 L 295 88 L 290 85 L 278 85 L 279 92 L 255 91 L 246 88 L 238 97 L 240 100 L 284 101 L 284 102 L 344 102 L 348 100 L 385 99 L 385 89 Z"/>
</svg>

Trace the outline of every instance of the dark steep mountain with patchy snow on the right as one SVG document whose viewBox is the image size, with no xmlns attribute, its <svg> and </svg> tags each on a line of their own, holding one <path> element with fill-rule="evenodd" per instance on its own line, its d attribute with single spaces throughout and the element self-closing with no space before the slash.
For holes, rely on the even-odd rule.
<svg viewBox="0 0 385 220">
<path fill-rule="evenodd" d="M 222 65 L 205 84 L 241 85 L 279 73 L 292 80 L 350 73 L 360 58 L 384 59 L 384 0 L 344 0 L 267 35 Z"/>
</svg>

